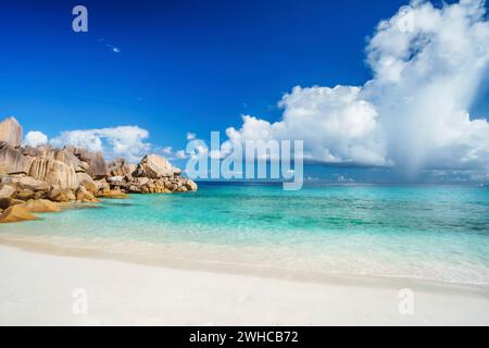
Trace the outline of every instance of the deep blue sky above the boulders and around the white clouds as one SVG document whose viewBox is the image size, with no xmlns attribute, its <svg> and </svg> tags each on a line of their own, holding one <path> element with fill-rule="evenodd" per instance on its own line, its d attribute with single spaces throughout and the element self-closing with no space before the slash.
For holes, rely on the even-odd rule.
<svg viewBox="0 0 489 348">
<path fill-rule="evenodd" d="M 49 138 L 136 125 L 149 130 L 152 148 L 181 149 L 187 132 L 208 138 L 211 130 L 239 130 L 242 114 L 280 121 L 277 102 L 294 86 L 363 86 L 375 70 L 366 62 L 368 37 L 406 3 L 11 2 L 0 11 L 0 115 Z M 76 4 L 88 9 L 88 33 L 72 30 Z M 471 114 L 489 114 L 487 85 L 477 86 Z M 405 162 L 392 148 L 392 158 Z"/>
</svg>

